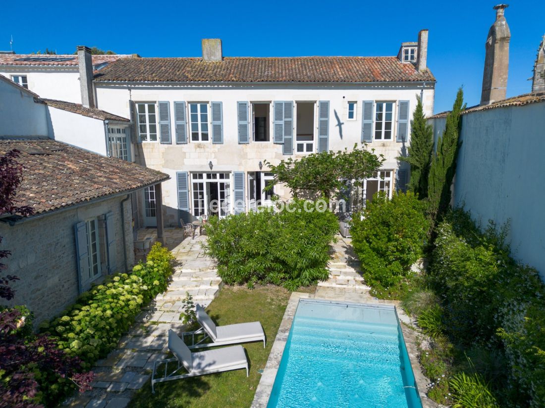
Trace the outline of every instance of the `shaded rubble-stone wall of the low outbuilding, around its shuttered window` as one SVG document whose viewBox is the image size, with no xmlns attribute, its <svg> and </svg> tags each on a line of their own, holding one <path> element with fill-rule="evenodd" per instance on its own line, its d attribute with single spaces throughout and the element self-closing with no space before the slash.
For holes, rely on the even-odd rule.
<svg viewBox="0 0 545 408">
<path fill-rule="evenodd" d="M 114 197 L 97 203 L 46 215 L 37 219 L 17 222 L 14 226 L 0 222 L 2 249 L 10 250 L 8 269 L 4 273 L 16 275 L 19 281 L 11 286 L 15 298 L 1 303 L 8 306 L 27 305 L 35 314 L 36 325 L 50 319 L 70 306 L 78 296 L 78 273 L 74 224 L 107 212 L 114 214 L 116 259 L 118 270 L 124 269 L 123 231 L 120 202 L 126 196 Z M 131 200 L 124 204 L 127 264 L 134 264 Z M 104 234 L 104 223 L 99 222 Z M 106 253 L 101 242 L 101 253 Z M 107 274 L 106 256 L 102 277 Z"/>
</svg>

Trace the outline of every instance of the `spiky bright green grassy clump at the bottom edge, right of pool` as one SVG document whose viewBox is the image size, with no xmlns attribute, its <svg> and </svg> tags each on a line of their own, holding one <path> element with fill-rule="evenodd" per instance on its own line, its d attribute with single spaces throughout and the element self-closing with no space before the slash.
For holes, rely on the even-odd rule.
<svg viewBox="0 0 545 408">
<path fill-rule="evenodd" d="M 457 373 L 449 381 L 452 408 L 498 408 L 488 384 L 479 374 Z"/>
</svg>

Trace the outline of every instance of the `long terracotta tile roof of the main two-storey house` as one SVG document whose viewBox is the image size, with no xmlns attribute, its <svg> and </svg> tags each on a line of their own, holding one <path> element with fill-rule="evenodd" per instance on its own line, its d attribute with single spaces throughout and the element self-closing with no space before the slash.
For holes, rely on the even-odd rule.
<svg viewBox="0 0 545 408">
<path fill-rule="evenodd" d="M 123 82 L 413 82 L 435 81 L 397 57 L 123 58 L 95 75 Z"/>
</svg>

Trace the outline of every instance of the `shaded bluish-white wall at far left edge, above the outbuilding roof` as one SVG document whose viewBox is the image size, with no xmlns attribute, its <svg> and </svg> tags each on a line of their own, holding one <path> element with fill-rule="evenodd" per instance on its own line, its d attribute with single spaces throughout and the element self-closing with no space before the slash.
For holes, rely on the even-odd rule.
<svg viewBox="0 0 545 408">
<path fill-rule="evenodd" d="M 45 136 L 47 106 L 9 82 L 0 81 L 0 136 Z"/>
</svg>

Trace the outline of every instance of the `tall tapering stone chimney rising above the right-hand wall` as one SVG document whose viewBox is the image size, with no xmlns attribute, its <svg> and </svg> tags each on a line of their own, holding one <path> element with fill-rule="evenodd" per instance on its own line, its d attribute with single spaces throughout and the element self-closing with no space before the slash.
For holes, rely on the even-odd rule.
<svg viewBox="0 0 545 408">
<path fill-rule="evenodd" d="M 486 40 L 485 72 L 482 77 L 481 105 L 505 99 L 509 70 L 509 41 L 511 32 L 505 20 L 508 4 L 494 6 L 496 21 L 488 31 Z"/>
</svg>

